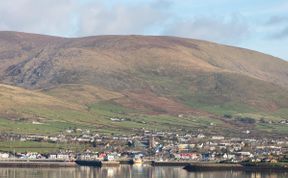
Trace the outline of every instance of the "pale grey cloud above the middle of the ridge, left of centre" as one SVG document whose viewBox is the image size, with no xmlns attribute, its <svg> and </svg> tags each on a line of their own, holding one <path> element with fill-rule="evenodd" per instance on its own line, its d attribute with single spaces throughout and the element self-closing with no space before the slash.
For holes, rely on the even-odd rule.
<svg viewBox="0 0 288 178">
<path fill-rule="evenodd" d="M 168 17 L 151 4 L 114 4 L 105 8 L 103 4 L 83 7 L 78 15 L 78 34 L 145 34 L 161 25 Z"/>
</svg>

